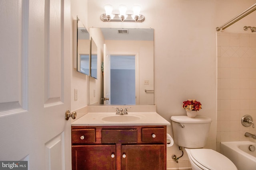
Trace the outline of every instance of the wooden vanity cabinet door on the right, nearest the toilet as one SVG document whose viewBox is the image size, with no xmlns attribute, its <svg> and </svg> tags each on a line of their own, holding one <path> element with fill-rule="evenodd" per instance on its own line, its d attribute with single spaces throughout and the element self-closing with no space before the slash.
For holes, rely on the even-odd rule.
<svg viewBox="0 0 256 170">
<path fill-rule="evenodd" d="M 121 156 L 122 170 L 164 170 L 164 144 L 122 145 Z"/>
</svg>

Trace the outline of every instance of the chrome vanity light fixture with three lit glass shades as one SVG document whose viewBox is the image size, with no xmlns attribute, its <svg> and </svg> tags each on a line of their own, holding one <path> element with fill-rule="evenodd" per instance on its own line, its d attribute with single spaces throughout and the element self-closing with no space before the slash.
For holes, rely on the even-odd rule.
<svg viewBox="0 0 256 170">
<path fill-rule="evenodd" d="M 132 7 L 133 14 L 126 14 L 127 7 L 125 5 L 119 6 L 119 14 L 112 14 L 113 6 L 105 5 L 105 14 L 100 16 L 102 21 L 128 21 L 128 22 L 143 22 L 145 17 L 140 14 L 140 6 L 135 5 Z"/>
</svg>

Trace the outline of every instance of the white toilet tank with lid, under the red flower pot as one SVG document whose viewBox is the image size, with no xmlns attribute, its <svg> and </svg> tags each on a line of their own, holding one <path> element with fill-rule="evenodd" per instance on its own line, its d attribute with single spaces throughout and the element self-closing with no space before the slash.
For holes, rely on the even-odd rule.
<svg viewBox="0 0 256 170">
<path fill-rule="evenodd" d="M 172 116 L 174 143 L 185 148 L 202 148 L 206 145 L 212 119 L 206 116 Z"/>
</svg>

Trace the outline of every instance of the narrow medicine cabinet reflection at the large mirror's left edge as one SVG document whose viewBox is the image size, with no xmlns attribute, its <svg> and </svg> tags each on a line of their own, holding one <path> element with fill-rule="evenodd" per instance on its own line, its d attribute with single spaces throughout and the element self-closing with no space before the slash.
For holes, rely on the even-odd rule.
<svg viewBox="0 0 256 170">
<path fill-rule="evenodd" d="M 91 39 L 91 76 L 97 79 L 97 45 Z"/>
</svg>

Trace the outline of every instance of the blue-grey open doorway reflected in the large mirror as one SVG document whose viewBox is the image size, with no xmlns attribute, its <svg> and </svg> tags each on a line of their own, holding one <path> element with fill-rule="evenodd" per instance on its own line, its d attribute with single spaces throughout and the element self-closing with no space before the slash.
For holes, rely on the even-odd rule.
<svg viewBox="0 0 256 170">
<path fill-rule="evenodd" d="M 135 55 L 110 55 L 112 105 L 135 105 Z"/>
</svg>

